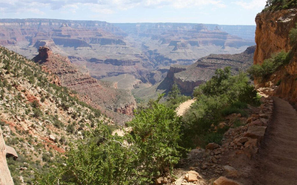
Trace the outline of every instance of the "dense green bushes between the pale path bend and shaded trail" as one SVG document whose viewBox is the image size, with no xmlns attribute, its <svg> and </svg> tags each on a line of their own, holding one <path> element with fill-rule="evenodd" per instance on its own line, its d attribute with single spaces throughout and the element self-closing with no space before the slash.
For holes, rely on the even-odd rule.
<svg viewBox="0 0 297 185">
<path fill-rule="evenodd" d="M 203 147 L 210 141 L 219 142 L 228 129 L 217 129 L 225 116 L 233 113 L 244 116 L 247 104 L 259 104 L 257 91 L 247 75 L 232 76 L 230 67 L 217 69 L 215 76 L 196 88 L 193 95 L 197 101 L 183 116 L 185 139 L 193 141 L 192 147 Z"/>
</svg>

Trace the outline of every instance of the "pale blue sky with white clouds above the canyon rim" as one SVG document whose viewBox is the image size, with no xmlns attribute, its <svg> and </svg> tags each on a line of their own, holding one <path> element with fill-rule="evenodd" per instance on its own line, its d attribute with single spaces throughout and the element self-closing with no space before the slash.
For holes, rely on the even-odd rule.
<svg viewBox="0 0 297 185">
<path fill-rule="evenodd" d="M 266 0 L 0 0 L 0 18 L 255 25 Z"/>
</svg>

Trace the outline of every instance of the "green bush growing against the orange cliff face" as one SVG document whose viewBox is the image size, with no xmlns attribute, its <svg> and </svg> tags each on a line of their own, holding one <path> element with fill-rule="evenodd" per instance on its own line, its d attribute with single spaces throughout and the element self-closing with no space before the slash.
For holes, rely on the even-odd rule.
<svg viewBox="0 0 297 185">
<path fill-rule="evenodd" d="M 277 69 L 290 62 L 290 52 L 281 51 L 264 60 L 263 64 L 253 65 L 248 69 L 252 79 L 267 79 Z"/>
</svg>

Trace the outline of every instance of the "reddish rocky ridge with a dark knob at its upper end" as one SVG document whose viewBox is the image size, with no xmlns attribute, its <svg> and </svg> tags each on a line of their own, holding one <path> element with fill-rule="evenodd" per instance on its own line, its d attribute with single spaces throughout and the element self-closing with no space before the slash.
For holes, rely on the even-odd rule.
<svg viewBox="0 0 297 185">
<path fill-rule="evenodd" d="M 62 86 L 76 91 L 84 102 L 113 117 L 118 123 L 128 121 L 128 116 L 132 116 L 133 109 L 137 107 L 129 91 L 117 90 L 111 84 L 91 77 L 85 67 L 72 64 L 67 57 L 53 53 L 48 47 L 40 47 L 33 60 L 57 75 Z"/>
</svg>

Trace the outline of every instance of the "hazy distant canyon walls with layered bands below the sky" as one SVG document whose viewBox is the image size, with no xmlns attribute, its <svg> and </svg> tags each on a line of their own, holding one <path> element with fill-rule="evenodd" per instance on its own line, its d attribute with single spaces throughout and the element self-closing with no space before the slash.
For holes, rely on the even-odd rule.
<svg viewBox="0 0 297 185">
<path fill-rule="evenodd" d="M 131 74 L 152 85 L 171 64 L 236 54 L 255 44 L 255 26 L 240 25 L 0 19 L 0 31 L 0 45 L 30 59 L 46 46 L 96 79 Z"/>
</svg>

